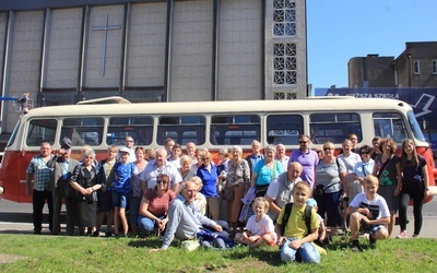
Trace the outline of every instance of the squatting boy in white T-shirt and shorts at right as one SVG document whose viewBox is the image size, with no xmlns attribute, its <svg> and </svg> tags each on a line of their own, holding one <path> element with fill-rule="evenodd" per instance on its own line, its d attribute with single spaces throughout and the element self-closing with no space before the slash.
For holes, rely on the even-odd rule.
<svg viewBox="0 0 437 273">
<path fill-rule="evenodd" d="M 347 207 L 351 214 L 352 250 L 362 251 L 358 236 L 359 227 L 370 233 L 370 246 L 376 240 L 387 239 L 389 236 L 387 225 L 390 223 L 390 211 L 386 200 L 377 193 L 379 181 L 373 175 L 367 175 L 363 181 L 364 192 L 358 193 Z"/>
</svg>

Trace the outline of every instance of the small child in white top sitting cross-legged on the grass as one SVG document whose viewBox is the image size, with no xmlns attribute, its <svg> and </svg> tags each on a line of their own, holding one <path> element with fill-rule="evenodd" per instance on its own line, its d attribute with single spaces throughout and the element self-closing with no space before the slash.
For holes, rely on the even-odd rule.
<svg viewBox="0 0 437 273">
<path fill-rule="evenodd" d="M 246 224 L 246 232 L 235 235 L 235 239 L 244 245 L 257 248 L 263 244 L 273 247 L 276 244 L 273 221 L 265 213 L 269 211 L 269 202 L 264 198 L 253 201 L 255 215 L 250 216 Z"/>
</svg>

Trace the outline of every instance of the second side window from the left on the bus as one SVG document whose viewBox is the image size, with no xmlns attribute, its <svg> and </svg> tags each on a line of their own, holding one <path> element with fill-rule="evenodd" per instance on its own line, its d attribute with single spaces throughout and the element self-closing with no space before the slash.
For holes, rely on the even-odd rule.
<svg viewBox="0 0 437 273">
<path fill-rule="evenodd" d="M 66 118 L 62 122 L 60 143 L 70 138 L 74 146 L 102 144 L 103 118 Z"/>
</svg>

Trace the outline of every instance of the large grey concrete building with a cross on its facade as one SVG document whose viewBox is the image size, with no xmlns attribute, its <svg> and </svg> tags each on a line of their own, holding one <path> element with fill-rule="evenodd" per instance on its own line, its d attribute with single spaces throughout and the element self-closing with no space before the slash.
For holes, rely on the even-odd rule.
<svg viewBox="0 0 437 273">
<path fill-rule="evenodd" d="M 3 0 L 2 96 L 35 107 L 306 96 L 305 0 Z M 1 104 L 1 129 L 19 119 Z"/>
</svg>

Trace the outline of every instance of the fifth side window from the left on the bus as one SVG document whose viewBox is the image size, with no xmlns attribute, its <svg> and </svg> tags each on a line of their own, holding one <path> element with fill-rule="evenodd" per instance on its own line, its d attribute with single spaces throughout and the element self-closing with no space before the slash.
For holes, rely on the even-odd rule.
<svg viewBox="0 0 437 273">
<path fill-rule="evenodd" d="M 260 139 L 260 117 L 257 115 L 223 115 L 211 118 L 214 145 L 250 145 Z"/>
</svg>

